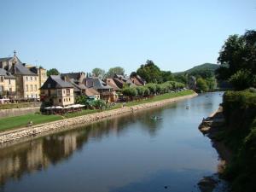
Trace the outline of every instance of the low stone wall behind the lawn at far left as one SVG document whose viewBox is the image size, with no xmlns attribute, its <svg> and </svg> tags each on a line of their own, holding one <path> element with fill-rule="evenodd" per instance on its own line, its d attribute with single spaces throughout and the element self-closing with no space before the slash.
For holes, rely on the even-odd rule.
<svg viewBox="0 0 256 192">
<path fill-rule="evenodd" d="M 40 107 L 0 109 L 0 119 L 6 117 L 19 116 L 22 114 L 36 113 L 39 111 Z"/>
</svg>

